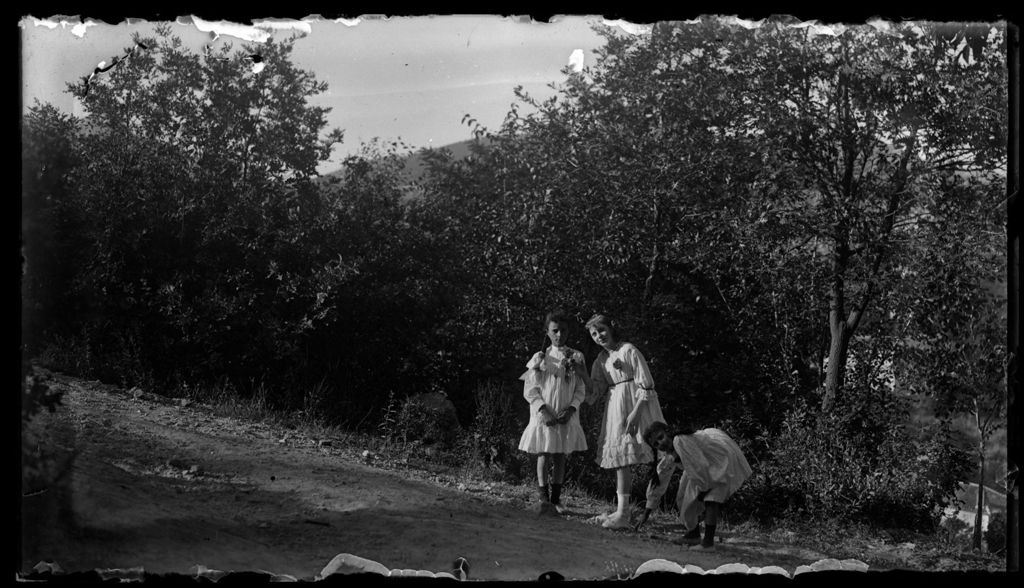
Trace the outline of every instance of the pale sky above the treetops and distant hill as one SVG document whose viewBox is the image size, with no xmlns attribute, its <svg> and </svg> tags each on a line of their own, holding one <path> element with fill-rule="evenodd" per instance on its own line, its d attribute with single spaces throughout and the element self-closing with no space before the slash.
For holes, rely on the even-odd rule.
<svg viewBox="0 0 1024 588">
<path fill-rule="evenodd" d="M 154 27 L 143 20 L 99 23 L 87 14 L 62 22 L 26 16 L 19 25 L 24 108 L 39 99 L 76 114 L 67 83 L 123 56 L 133 45 L 132 33 L 148 34 Z M 594 50 L 603 43 L 595 26 L 636 33 L 629 24 L 600 16 L 551 23 L 452 15 L 231 24 L 184 15 L 175 20 L 174 34 L 195 49 L 303 35 L 293 60 L 328 83 L 328 91 L 311 102 L 332 109 L 328 129 L 345 131 L 344 142 L 321 166 L 327 172 L 373 137 L 441 146 L 471 137 L 465 115 L 497 128 L 516 101 L 516 85 L 544 98 L 554 92 L 550 84 L 564 81 L 570 62 L 594 65 Z"/>
</svg>

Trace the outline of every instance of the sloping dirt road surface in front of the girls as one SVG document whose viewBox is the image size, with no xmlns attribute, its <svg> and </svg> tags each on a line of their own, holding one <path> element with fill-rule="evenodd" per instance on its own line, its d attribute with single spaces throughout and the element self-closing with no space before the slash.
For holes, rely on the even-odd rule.
<svg viewBox="0 0 1024 588">
<path fill-rule="evenodd" d="M 53 383 L 63 405 L 39 422 L 76 457 L 62 487 L 23 500 L 25 572 L 51 560 L 65 572 L 189 574 L 203 565 L 309 580 L 347 552 L 434 572 L 464 556 L 471 580 L 535 580 L 548 571 L 605 579 L 653 558 L 792 574 L 828 557 L 728 529 L 715 550 L 691 551 L 668 540 L 678 531 L 668 515 L 645 533 L 608 531 L 588 520 L 607 505 L 572 496 L 574 512 L 541 518 L 499 485 L 449 486 L 429 471 L 374 467 L 357 449 L 208 407 L 59 375 Z"/>
</svg>

